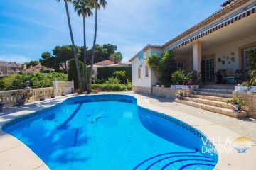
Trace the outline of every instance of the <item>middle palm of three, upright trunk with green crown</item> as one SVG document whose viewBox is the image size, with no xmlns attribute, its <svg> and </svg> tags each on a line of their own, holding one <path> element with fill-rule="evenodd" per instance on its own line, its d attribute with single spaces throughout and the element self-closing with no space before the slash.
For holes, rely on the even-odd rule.
<svg viewBox="0 0 256 170">
<path fill-rule="evenodd" d="M 75 11 L 78 13 L 78 16 L 82 15 L 83 22 L 83 35 L 84 35 L 84 90 L 87 91 L 87 73 L 86 73 L 86 37 L 85 37 L 85 18 L 87 16 L 92 16 L 90 1 L 88 0 L 75 0 L 73 1 L 73 6 Z"/>
</svg>

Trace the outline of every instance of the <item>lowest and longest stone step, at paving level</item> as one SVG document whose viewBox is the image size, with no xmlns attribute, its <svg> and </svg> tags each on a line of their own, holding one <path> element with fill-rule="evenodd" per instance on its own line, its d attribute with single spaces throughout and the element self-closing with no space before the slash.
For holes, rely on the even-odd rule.
<svg viewBox="0 0 256 170">
<path fill-rule="evenodd" d="M 220 107 L 216 107 L 216 106 L 206 105 L 206 104 L 203 104 L 203 103 L 196 103 L 196 102 L 193 102 L 193 101 L 178 100 L 178 99 L 175 99 L 175 101 L 178 102 L 178 103 L 186 104 L 188 106 L 201 108 L 201 109 L 206 110 L 206 111 L 212 111 L 212 112 L 219 113 L 219 114 L 222 114 L 222 115 L 228 115 L 228 116 L 233 117 L 233 118 L 245 118 L 245 117 L 247 117 L 247 112 L 245 112 L 245 111 L 234 112 L 234 111 L 231 111 L 231 109 L 228 109 L 228 108 L 220 108 Z"/>
</svg>

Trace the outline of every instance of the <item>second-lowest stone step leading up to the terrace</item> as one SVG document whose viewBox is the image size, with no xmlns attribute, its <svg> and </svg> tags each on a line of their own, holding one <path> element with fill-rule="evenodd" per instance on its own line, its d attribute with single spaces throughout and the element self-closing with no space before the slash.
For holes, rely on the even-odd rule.
<svg viewBox="0 0 256 170">
<path fill-rule="evenodd" d="M 189 98 L 189 97 L 184 98 L 184 100 L 193 101 L 196 103 L 203 103 L 206 105 L 216 106 L 216 107 L 220 107 L 220 108 L 229 108 L 229 109 L 232 108 L 231 105 L 228 105 L 227 103 L 225 103 L 223 101 L 212 101 L 212 100 L 207 100 L 207 99 L 203 99 L 203 98 Z"/>
</svg>

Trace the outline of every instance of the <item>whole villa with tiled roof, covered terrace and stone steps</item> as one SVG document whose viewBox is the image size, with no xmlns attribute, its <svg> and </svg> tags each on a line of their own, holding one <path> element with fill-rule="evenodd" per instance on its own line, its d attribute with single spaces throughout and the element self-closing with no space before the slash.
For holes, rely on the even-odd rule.
<svg viewBox="0 0 256 170">
<path fill-rule="evenodd" d="M 132 91 L 175 97 L 177 87 L 155 87 L 156 76 L 146 64 L 149 55 L 161 56 L 171 50 L 175 69 L 196 71 L 207 84 L 197 89 L 197 95 L 192 94 L 193 89 L 182 89 L 187 97 L 176 102 L 235 118 L 256 118 L 256 93 L 234 91 L 236 82 L 248 79 L 248 51 L 256 48 L 256 0 L 228 0 L 221 6 L 220 11 L 164 45 L 146 45 L 132 57 Z M 245 101 L 241 112 L 230 110 L 226 101 L 231 97 Z"/>
</svg>

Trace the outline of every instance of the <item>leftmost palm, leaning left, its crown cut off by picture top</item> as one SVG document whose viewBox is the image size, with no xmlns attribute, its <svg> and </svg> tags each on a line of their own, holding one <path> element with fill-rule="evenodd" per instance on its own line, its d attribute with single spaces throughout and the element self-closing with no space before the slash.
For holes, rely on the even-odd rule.
<svg viewBox="0 0 256 170">
<path fill-rule="evenodd" d="M 60 1 L 60 0 L 57 0 Z M 73 38 L 73 32 L 72 32 L 72 28 L 71 28 L 71 23 L 70 23 L 70 16 L 69 16 L 69 11 L 68 11 L 68 2 L 71 2 L 71 0 L 64 0 L 65 2 L 65 9 L 67 12 L 67 17 L 68 17 L 68 28 L 70 30 L 70 38 L 71 38 L 71 42 L 72 42 L 72 49 L 73 49 L 73 53 L 75 56 L 75 67 L 77 68 L 77 72 L 78 72 L 78 81 L 79 81 L 79 85 L 80 88 L 82 89 L 82 79 L 81 79 L 81 73 L 80 73 L 80 67 L 78 65 L 78 55 L 76 53 L 75 50 L 75 42 L 74 42 L 74 38 Z"/>
</svg>

